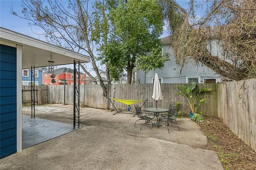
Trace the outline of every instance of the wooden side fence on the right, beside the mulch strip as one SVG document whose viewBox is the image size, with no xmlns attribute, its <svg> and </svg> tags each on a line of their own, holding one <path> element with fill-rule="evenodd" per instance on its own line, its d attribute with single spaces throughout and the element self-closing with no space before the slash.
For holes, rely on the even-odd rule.
<svg viewBox="0 0 256 170">
<path fill-rule="evenodd" d="M 220 83 L 218 117 L 256 151 L 256 79 Z"/>
</svg>

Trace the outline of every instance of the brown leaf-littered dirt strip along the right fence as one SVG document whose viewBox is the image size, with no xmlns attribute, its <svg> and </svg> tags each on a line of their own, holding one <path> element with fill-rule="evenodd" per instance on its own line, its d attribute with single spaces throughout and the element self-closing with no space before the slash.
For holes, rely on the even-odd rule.
<svg viewBox="0 0 256 170">
<path fill-rule="evenodd" d="M 219 118 L 205 117 L 199 124 L 217 152 L 225 170 L 256 170 L 256 152 L 238 138 Z"/>
</svg>

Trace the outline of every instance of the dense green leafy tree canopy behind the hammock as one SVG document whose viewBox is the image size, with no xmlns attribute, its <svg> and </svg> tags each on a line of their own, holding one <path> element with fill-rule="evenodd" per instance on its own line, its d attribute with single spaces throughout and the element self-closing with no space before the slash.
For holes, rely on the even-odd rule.
<svg viewBox="0 0 256 170">
<path fill-rule="evenodd" d="M 110 0 L 108 5 L 111 33 L 99 51 L 111 77 L 118 80 L 126 70 L 131 83 L 135 67 L 161 69 L 169 58 L 162 55 L 159 37 L 164 22 L 157 0 Z"/>
</svg>

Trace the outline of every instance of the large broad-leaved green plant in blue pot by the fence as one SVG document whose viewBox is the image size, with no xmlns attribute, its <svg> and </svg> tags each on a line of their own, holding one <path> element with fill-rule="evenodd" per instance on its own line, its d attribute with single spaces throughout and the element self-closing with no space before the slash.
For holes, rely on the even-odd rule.
<svg viewBox="0 0 256 170">
<path fill-rule="evenodd" d="M 191 82 L 188 84 L 188 87 L 179 86 L 180 91 L 176 92 L 176 95 L 183 95 L 188 103 L 184 103 L 190 107 L 190 118 L 194 113 L 198 113 L 198 108 L 200 105 L 204 105 L 205 99 L 200 99 L 202 93 L 211 91 L 210 88 L 196 89 L 196 83 Z"/>
</svg>

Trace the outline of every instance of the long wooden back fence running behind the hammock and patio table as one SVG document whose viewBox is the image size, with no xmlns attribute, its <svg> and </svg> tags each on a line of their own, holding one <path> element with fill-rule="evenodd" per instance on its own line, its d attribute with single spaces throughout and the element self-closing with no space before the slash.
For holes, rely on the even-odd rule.
<svg viewBox="0 0 256 170">
<path fill-rule="evenodd" d="M 190 109 L 186 103 L 186 99 L 182 95 L 175 95 L 178 91 L 178 86 L 185 84 L 162 84 L 162 94 L 163 99 L 158 101 L 158 107 L 168 108 L 170 102 L 180 102 L 180 110 L 185 113 L 189 113 Z M 201 87 L 200 87 L 201 86 Z M 212 89 L 210 93 L 205 93 L 202 95 L 204 99 L 207 100 L 205 105 L 201 106 L 200 110 L 203 111 L 205 115 L 217 115 L 217 88 L 216 84 L 201 84 L 197 88 L 209 87 Z M 107 87 L 107 85 L 106 85 Z M 65 92 L 64 92 L 65 88 Z M 65 103 L 73 105 L 73 85 L 51 85 L 48 88 L 48 101 L 50 103 Z M 109 97 L 114 97 L 116 99 L 148 99 L 153 101 L 153 84 L 112 84 L 108 88 Z M 119 103 L 117 101 L 112 101 L 117 109 L 127 109 L 127 105 Z M 142 105 L 143 102 L 139 102 L 138 105 Z M 114 107 L 108 101 L 106 97 L 103 96 L 102 88 L 100 85 L 80 85 L 80 105 L 86 107 L 94 107 L 101 109 L 113 109 Z M 156 102 L 153 101 L 154 107 Z M 131 106 L 132 110 L 134 105 Z"/>
</svg>

